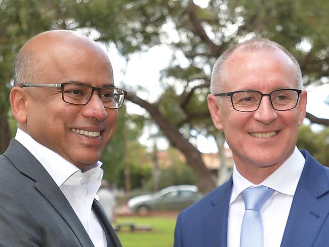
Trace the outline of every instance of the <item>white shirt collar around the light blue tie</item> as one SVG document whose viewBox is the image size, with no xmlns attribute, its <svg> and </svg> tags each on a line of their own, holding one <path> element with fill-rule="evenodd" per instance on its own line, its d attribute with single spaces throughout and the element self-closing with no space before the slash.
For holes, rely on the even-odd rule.
<svg viewBox="0 0 329 247">
<path fill-rule="evenodd" d="M 275 170 L 268 178 L 262 183 L 256 185 L 249 180 L 245 179 L 236 169 L 235 164 L 233 167 L 233 188 L 230 203 L 232 203 L 239 194 L 246 188 L 251 186 L 264 185 L 275 191 L 286 194 L 295 195 L 295 191 L 302 175 L 305 164 L 305 158 L 302 153 L 295 147 L 292 155 L 287 158 L 281 166 Z M 289 183 L 287 183 L 289 181 Z"/>
</svg>

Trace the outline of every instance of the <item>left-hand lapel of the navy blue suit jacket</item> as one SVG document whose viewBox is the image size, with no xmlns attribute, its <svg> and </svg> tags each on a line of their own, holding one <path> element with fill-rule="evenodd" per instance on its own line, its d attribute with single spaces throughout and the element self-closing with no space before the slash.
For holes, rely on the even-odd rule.
<svg viewBox="0 0 329 247">
<path fill-rule="evenodd" d="M 211 209 L 202 222 L 204 246 L 227 246 L 227 217 L 232 186 L 231 177 L 229 181 L 218 187 L 217 193 L 214 193 L 211 199 Z"/>
</svg>

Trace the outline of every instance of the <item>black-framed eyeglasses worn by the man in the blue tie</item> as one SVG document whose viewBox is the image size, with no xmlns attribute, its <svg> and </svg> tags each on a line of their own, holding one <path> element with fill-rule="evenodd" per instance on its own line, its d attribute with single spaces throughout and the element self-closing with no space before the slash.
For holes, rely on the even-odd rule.
<svg viewBox="0 0 329 247">
<path fill-rule="evenodd" d="M 229 93 L 214 94 L 214 96 L 230 96 L 232 106 L 237 111 L 256 111 L 262 101 L 263 96 L 269 96 L 272 107 L 278 111 L 287 111 L 296 107 L 300 89 L 277 89 L 269 94 L 263 94 L 255 90 L 241 90 Z"/>
</svg>

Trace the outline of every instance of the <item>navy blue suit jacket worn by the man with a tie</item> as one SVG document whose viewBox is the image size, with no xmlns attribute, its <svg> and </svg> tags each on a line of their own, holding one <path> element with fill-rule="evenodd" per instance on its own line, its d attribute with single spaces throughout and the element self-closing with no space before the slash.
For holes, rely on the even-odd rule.
<svg viewBox="0 0 329 247">
<path fill-rule="evenodd" d="M 329 246 L 329 168 L 301 150 L 305 166 L 281 247 Z M 226 247 L 232 177 L 178 216 L 174 247 Z"/>
</svg>

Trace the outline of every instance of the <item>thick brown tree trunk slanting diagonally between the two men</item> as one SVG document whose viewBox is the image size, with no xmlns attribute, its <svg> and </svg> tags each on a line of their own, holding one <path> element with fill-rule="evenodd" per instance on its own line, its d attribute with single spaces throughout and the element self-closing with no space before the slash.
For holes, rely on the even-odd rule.
<svg viewBox="0 0 329 247">
<path fill-rule="evenodd" d="M 163 117 L 156 105 L 148 103 L 133 93 L 129 93 L 127 99 L 145 108 L 151 114 L 163 134 L 168 138 L 171 145 L 178 148 L 183 153 L 187 163 L 198 176 L 197 185 L 199 189 L 203 193 L 208 193 L 213 190 L 216 187 L 216 183 L 211 172 L 205 167 L 200 151 L 183 137 L 176 126 Z"/>
</svg>

